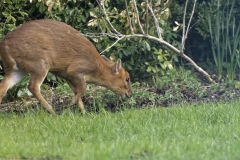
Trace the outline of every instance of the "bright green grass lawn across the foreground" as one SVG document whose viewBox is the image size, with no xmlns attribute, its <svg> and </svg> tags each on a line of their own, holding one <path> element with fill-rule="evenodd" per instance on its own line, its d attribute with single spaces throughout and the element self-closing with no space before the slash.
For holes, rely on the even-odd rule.
<svg viewBox="0 0 240 160">
<path fill-rule="evenodd" d="M 0 159 L 240 159 L 239 106 L 0 114 Z"/>
</svg>

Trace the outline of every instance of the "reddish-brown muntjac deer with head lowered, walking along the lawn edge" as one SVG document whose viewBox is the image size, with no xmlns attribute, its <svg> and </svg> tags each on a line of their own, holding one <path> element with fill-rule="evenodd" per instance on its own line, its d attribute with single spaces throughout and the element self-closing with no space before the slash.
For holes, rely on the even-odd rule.
<svg viewBox="0 0 240 160">
<path fill-rule="evenodd" d="M 104 86 L 123 98 L 132 95 L 130 77 L 121 60 L 114 63 L 101 56 L 87 38 L 62 22 L 33 20 L 23 24 L 0 42 L 0 55 L 5 72 L 0 83 L 0 103 L 7 90 L 29 74 L 28 89 L 54 114 L 40 93 L 48 72 L 66 80 L 75 94 L 72 103 L 78 103 L 82 113 L 86 82 Z"/>
</svg>

